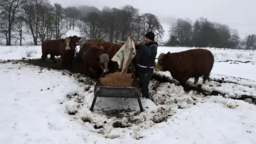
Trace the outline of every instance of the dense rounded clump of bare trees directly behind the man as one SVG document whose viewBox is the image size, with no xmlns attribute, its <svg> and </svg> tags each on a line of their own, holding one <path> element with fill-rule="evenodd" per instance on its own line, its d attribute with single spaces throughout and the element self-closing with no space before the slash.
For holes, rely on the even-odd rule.
<svg viewBox="0 0 256 144">
<path fill-rule="evenodd" d="M 164 34 L 156 15 L 140 15 L 139 9 L 131 5 L 125 5 L 121 9 L 105 7 L 100 12 L 92 12 L 81 20 L 79 29 L 85 37 L 105 38 L 111 42 L 126 41 L 127 36 L 141 41 L 147 31 L 154 31 L 156 40 Z"/>
</svg>

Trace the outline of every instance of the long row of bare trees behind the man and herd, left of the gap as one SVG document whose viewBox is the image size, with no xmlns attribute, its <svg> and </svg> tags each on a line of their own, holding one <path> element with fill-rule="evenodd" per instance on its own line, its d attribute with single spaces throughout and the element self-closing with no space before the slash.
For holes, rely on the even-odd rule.
<svg viewBox="0 0 256 144">
<path fill-rule="evenodd" d="M 86 38 L 105 38 L 109 41 L 125 41 L 127 36 L 142 40 L 146 31 L 154 31 L 156 38 L 163 36 L 164 30 L 156 15 L 145 13 L 131 5 L 121 9 L 102 11 L 97 8 L 86 11 L 86 6 L 62 7 L 49 0 L 0 0 L 0 36 L 11 45 L 12 39 L 22 44 L 24 33 L 33 37 L 34 45 L 46 39 L 63 37 L 68 29 L 80 28 Z M 89 9 L 90 10 L 90 9 Z M 86 12 L 85 12 L 86 11 Z"/>
</svg>

